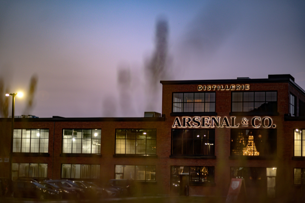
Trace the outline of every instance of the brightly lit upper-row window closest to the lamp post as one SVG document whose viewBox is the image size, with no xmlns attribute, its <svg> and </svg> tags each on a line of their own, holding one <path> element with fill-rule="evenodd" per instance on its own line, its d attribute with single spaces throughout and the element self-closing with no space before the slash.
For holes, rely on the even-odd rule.
<svg viewBox="0 0 305 203">
<path fill-rule="evenodd" d="M 48 129 L 14 129 L 13 152 L 48 153 Z"/>
</svg>

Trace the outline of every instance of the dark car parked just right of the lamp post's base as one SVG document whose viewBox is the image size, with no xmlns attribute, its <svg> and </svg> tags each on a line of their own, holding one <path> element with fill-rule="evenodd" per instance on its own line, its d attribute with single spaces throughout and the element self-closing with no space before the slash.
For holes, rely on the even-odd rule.
<svg viewBox="0 0 305 203">
<path fill-rule="evenodd" d="M 11 183 L 11 194 L 13 198 L 39 198 L 59 199 L 59 191 L 51 190 L 32 181 L 13 181 Z"/>
</svg>

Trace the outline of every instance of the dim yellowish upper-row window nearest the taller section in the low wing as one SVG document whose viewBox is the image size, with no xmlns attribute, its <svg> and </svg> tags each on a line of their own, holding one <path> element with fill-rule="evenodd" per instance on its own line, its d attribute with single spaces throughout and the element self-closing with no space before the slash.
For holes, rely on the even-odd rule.
<svg viewBox="0 0 305 203">
<path fill-rule="evenodd" d="M 117 129 L 116 154 L 156 154 L 156 129 Z"/>
</svg>

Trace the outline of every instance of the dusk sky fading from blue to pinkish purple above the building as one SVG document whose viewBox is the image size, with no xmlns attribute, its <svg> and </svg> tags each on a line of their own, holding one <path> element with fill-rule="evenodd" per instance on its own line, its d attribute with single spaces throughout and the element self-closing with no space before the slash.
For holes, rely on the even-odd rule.
<svg viewBox="0 0 305 203">
<path fill-rule="evenodd" d="M 168 25 L 167 80 L 267 78 L 291 74 L 305 89 L 305 1 L 5 1 L 0 0 L 0 77 L 15 115 L 40 118 L 142 117 L 145 64 L 156 23 Z M 130 71 L 119 87 L 119 69 Z M 122 92 L 125 92 L 122 96 Z M 1 97 L 5 97 L 1 95 Z M 122 105 L 128 97 L 129 104 Z M 9 98 L 9 115 L 11 113 Z"/>
</svg>

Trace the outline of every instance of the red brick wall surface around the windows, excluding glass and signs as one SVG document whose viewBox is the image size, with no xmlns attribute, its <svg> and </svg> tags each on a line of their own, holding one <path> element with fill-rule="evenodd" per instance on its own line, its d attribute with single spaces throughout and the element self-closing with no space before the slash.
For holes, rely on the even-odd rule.
<svg viewBox="0 0 305 203">
<path fill-rule="evenodd" d="M 196 92 L 198 85 L 163 85 L 162 114 L 163 121 L 95 121 L 95 122 L 15 122 L 15 128 L 48 128 L 49 157 L 13 157 L 13 162 L 48 163 L 48 178 L 61 177 L 61 164 L 100 164 L 100 179 L 114 178 L 115 165 L 156 165 L 156 183 L 145 183 L 141 190 L 144 193 L 170 194 L 170 166 L 214 166 L 216 186 L 190 186 L 190 195 L 226 195 L 230 184 L 230 167 L 277 167 L 276 191 L 281 194 L 295 194 L 298 188 L 293 186 L 293 168 L 305 168 L 304 161 L 292 161 L 294 148 L 293 129 L 305 129 L 305 122 L 284 121 L 284 114 L 289 113 L 289 92 L 305 101 L 300 94 L 288 83 L 254 83 L 249 84 L 249 91 L 277 91 L 278 116 L 269 116 L 277 129 L 277 158 L 274 160 L 233 160 L 230 159 L 231 128 L 215 128 L 216 159 L 169 158 L 171 150 L 171 129 L 176 116 L 170 116 L 172 111 L 172 92 Z M 202 91 L 201 91 L 202 92 Z M 231 91 L 216 90 L 217 116 L 230 117 Z M 297 99 L 298 102 L 298 99 Z M 298 104 L 297 104 L 298 105 Z M 254 116 L 234 116 L 236 120 Z M 265 116 L 260 116 L 265 117 Z M 3 129 L 10 129 L 10 120 L 1 121 L 2 131 L 0 151 L 2 156 L 9 154 L 10 138 Z M 157 158 L 114 158 L 115 129 L 157 129 Z M 246 129 L 252 126 L 241 127 Z M 63 129 L 102 129 L 101 157 L 61 157 Z M 7 131 L 7 130 L 6 130 Z M 8 131 L 10 133 L 10 131 Z M 53 137 L 54 134 L 54 137 Z M 54 157 L 53 157 L 54 138 Z M 3 144 L 5 143 L 5 144 Z M 8 147 L 9 146 L 9 147 Z M 53 164 L 52 164 L 53 163 Z M 9 165 L 0 163 L 1 168 Z M 7 171 L 7 170 L 3 170 Z M 8 176 L 0 170 L 1 176 Z M 286 186 L 289 186 L 286 188 Z"/>
</svg>

